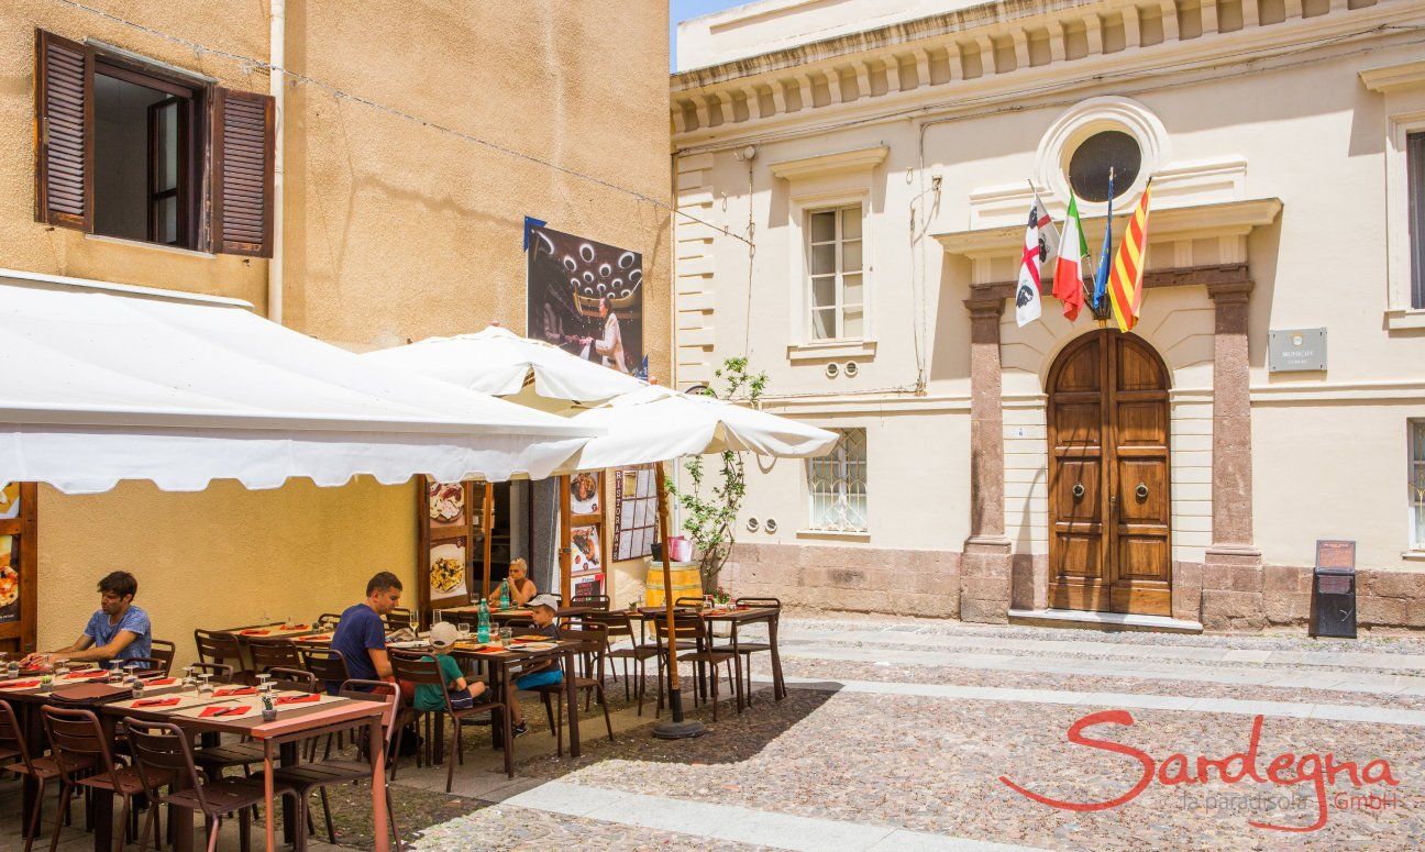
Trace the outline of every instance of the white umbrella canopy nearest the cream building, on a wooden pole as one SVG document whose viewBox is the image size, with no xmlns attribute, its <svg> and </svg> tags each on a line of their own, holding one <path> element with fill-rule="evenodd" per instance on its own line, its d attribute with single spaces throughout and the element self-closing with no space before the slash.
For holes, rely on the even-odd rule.
<svg viewBox="0 0 1425 852">
<path fill-rule="evenodd" d="M 573 422 L 598 427 L 606 435 L 586 443 L 560 466 L 561 473 L 647 464 L 722 450 L 811 457 L 831 452 L 836 443 L 834 432 L 799 420 L 656 385 L 589 407 Z"/>
</svg>

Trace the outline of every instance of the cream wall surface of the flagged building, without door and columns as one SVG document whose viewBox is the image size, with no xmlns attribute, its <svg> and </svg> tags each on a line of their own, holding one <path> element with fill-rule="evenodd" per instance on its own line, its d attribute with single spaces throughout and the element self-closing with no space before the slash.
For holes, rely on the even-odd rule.
<svg viewBox="0 0 1425 852">
<path fill-rule="evenodd" d="M 1050 6 L 1042 4 L 1043 17 L 1029 26 L 1070 14 Z M 1181 6 L 1196 14 L 1196 4 Z M 1359 16 L 1391 10 L 1399 20 L 1414 20 L 1422 6 L 1381 0 L 1332 7 L 1330 14 L 1341 16 L 1332 26 L 1351 30 L 1369 23 L 1355 24 Z M 1399 308 L 1387 285 L 1388 246 L 1399 245 L 1402 232 L 1389 229 L 1385 178 L 1388 117 L 1425 110 L 1425 90 L 1394 95 L 1392 107 L 1359 77 L 1364 68 L 1418 58 L 1418 44 L 1385 37 L 1369 50 L 1362 44 L 1301 48 L 1290 67 L 1274 71 L 1263 71 L 1258 63 L 1168 76 L 1151 64 L 1154 56 L 1177 63 L 1227 50 L 1218 44 L 1248 50 L 1258 43 L 1251 40 L 1287 37 L 1297 31 L 1292 27 L 1325 27 L 1328 17 L 1312 13 L 1270 26 L 1275 28 L 1237 21 L 1231 34 L 1201 36 L 1177 47 L 1117 48 L 1073 63 L 1050 61 L 1047 43 L 1036 41 L 1035 67 L 1017 67 L 1007 51 L 996 60 L 999 73 L 956 71 L 972 80 L 950 78 L 946 38 L 892 40 L 885 50 L 842 56 L 832 56 L 835 46 L 817 44 L 807 48 L 804 66 L 792 56 L 761 56 L 674 77 L 680 205 L 735 232 L 744 231 L 751 205 L 757 224 L 751 298 L 745 245 L 701 225 L 678 228 L 680 383 L 707 380 L 722 358 L 750 352 L 752 366 L 771 376 L 771 410 L 824 426 L 868 427 L 871 531 L 864 540 L 838 543 L 871 549 L 875 556 L 868 559 L 879 559 L 884 549 L 959 550 L 970 509 L 969 318 L 962 301 L 972 281 L 1012 281 L 1019 255 L 1006 245 L 976 268 L 933 239 L 913 242 L 911 204 L 939 177 L 940 192 L 925 197 L 933 199 L 928 234 L 1022 229 L 1027 199 L 995 208 L 992 197 L 1027 189 L 1025 180 L 1036 175 L 1037 148 L 1056 118 L 1094 95 L 1131 97 L 1164 125 L 1163 171 L 1200 172 L 1164 177 L 1156 189 L 1176 188 L 1156 197 L 1154 215 L 1234 199 L 1280 198 L 1282 204 L 1281 214 L 1257 227 L 1244 245 L 1220 238 L 1217 225 L 1204 221 L 1201 234 L 1156 242 L 1149 255 L 1150 266 L 1167 268 L 1217 264 L 1238 248 L 1245 251 L 1255 281 L 1250 308 L 1254 537 L 1264 561 L 1310 566 L 1315 539 L 1342 537 L 1359 541 L 1362 568 L 1419 570 L 1419 561 L 1402 556 L 1409 531 L 1399 483 L 1406 473 L 1405 422 L 1425 417 L 1425 336 L 1388 328 L 1388 312 Z M 975 30 L 955 36 L 969 61 Z M 1317 38 L 1320 31 L 1302 30 L 1300 40 L 1308 36 Z M 768 36 L 765 50 L 778 47 Z M 931 51 L 929 80 L 916 70 L 916 48 Z M 888 61 L 899 63 L 899 91 L 884 74 Z M 828 95 L 828 71 L 839 74 L 845 101 Z M 814 105 L 797 108 L 801 74 L 811 81 Z M 1093 74 L 1114 83 L 1104 85 Z M 858 76 L 866 76 L 868 90 Z M 1042 94 L 1049 88 L 1056 91 Z M 748 91 L 755 97 L 747 100 Z M 933 123 L 942 117 L 950 120 Z M 928 121 L 922 170 L 919 145 Z M 748 165 L 737 158 L 748 145 L 757 151 L 751 195 Z M 888 152 L 869 170 L 792 180 L 772 175 L 774 164 L 874 147 Z M 1223 170 L 1213 171 L 1218 165 Z M 798 342 L 802 325 L 798 198 L 807 207 L 855 189 L 869 205 L 868 338 L 874 348 L 798 356 L 788 348 Z M 1064 199 L 1046 198 L 1056 212 L 1063 209 Z M 1089 228 L 1094 252 L 1100 237 L 1102 229 Z M 1045 376 L 1070 339 L 1096 328 L 1084 318 L 1070 326 L 1059 318 L 1059 308 L 1046 298 L 1045 319 L 1020 329 L 1013 305 L 1006 303 L 1000 323 L 1006 533 L 1019 554 L 1046 553 Z M 1211 541 L 1213 322 L 1206 288 L 1180 286 L 1150 291 L 1137 329 L 1173 373 L 1174 559 L 1184 561 L 1200 561 Z M 1328 329 L 1330 368 L 1268 373 L 1268 331 L 1312 326 Z M 922 329 L 926 385 L 916 395 Z M 831 360 L 855 360 L 858 375 L 828 379 L 824 369 Z M 804 466 L 784 462 L 754 477 L 744 514 L 760 520 L 774 514 L 779 529 L 740 537 L 761 544 L 832 539 L 798 536 L 808 514 L 804 476 Z"/>
</svg>

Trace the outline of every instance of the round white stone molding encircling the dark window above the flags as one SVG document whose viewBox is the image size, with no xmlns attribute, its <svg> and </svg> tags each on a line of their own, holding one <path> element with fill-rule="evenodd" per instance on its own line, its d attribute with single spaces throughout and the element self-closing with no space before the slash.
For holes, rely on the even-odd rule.
<svg viewBox="0 0 1425 852">
<path fill-rule="evenodd" d="M 1139 177 L 1131 185 L 1123 187 L 1117 198 L 1136 198 L 1149 178 L 1168 161 L 1167 128 L 1143 104 L 1123 97 L 1097 97 L 1080 101 L 1064 110 L 1039 140 L 1035 155 L 1035 178 L 1040 187 L 1049 187 L 1064 205 L 1069 204 L 1069 158 L 1080 142 L 1096 133 L 1117 130 L 1133 137 L 1143 152 Z M 1107 204 L 1079 202 L 1082 215 L 1102 215 Z"/>
</svg>

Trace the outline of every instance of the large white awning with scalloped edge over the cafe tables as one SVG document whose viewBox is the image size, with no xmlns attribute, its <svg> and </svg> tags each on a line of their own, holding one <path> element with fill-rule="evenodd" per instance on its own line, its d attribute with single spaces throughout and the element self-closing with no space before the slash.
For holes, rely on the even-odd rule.
<svg viewBox="0 0 1425 852">
<path fill-rule="evenodd" d="M 0 482 L 542 479 L 598 433 L 368 363 L 232 299 L 0 269 Z"/>
</svg>

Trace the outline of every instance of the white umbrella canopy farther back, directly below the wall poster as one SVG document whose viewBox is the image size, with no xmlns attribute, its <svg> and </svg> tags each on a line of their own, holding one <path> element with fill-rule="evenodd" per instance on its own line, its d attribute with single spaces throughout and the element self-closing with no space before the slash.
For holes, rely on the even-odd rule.
<svg viewBox="0 0 1425 852">
<path fill-rule="evenodd" d="M 428 338 L 368 352 L 362 358 L 561 413 L 567 402 L 600 402 L 646 386 L 633 376 L 497 325 L 473 335 Z"/>
</svg>

